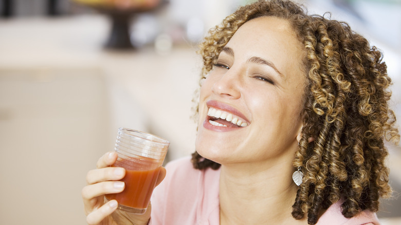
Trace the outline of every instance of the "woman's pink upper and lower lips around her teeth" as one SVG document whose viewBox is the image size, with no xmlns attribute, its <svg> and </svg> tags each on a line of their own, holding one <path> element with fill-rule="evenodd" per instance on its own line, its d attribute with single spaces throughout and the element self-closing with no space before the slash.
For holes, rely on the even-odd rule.
<svg viewBox="0 0 401 225">
<path fill-rule="evenodd" d="M 236 108 L 226 104 L 226 103 L 222 103 L 222 102 L 218 102 L 215 100 L 209 100 L 206 102 L 206 105 L 210 108 L 216 108 L 216 109 L 221 109 L 223 111 L 226 111 L 227 113 L 233 114 L 235 116 L 238 116 L 239 118 L 241 118 L 243 121 L 246 121 L 249 124 L 249 120 Z M 208 116 L 206 117 L 205 121 L 203 122 L 203 126 L 206 129 L 209 130 L 214 130 L 216 132 L 228 132 L 231 130 L 238 130 L 238 129 L 242 129 L 245 127 L 223 127 L 223 126 L 213 126 L 212 124 L 209 123 L 208 120 Z"/>
</svg>

